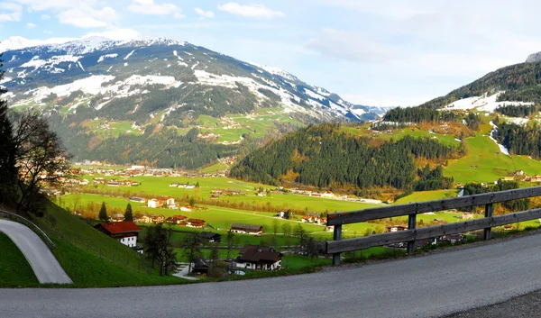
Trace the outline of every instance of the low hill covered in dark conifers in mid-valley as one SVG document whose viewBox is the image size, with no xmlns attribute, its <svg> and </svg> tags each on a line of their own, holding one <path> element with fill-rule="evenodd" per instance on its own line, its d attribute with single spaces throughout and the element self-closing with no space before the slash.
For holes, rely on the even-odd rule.
<svg viewBox="0 0 541 318">
<path fill-rule="evenodd" d="M 417 172 L 415 160 L 458 158 L 464 151 L 460 147 L 409 136 L 399 141 L 353 137 L 342 132 L 339 124 L 311 125 L 254 151 L 232 168 L 231 176 L 267 184 L 294 181 L 321 188 L 392 186 L 404 190 L 412 189 L 420 178 L 420 188 L 440 188 L 450 181 L 442 179 L 441 168 L 434 173 L 429 169 Z M 439 182 L 429 181 L 434 178 Z"/>
</svg>

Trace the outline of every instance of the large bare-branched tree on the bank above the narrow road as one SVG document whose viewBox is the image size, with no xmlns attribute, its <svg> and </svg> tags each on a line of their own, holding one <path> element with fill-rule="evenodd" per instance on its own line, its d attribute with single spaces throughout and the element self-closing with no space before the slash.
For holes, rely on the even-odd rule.
<svg viewBox="0 0 541 318">
<path fill-rule="evenodd" d="M 17 211 L 41 216 L 36 203 L 44 183 L 53 185 L 69 170 L 69 155 L 59 136 L 39 114 L 13 113 L 15 157 L 19 168 Z"/>
</svg>

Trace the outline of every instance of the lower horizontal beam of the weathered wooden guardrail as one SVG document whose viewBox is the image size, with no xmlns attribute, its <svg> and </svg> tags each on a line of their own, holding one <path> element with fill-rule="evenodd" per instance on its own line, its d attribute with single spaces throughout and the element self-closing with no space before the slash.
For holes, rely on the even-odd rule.
<svg viewBox="0 0 541 318">
<path fill-rule="evenodd" d="M 374 246 L 389 245 L 404 241 L 430 239 L 445 234 L 476 231 L 488 227 L 535 220 L 537 218 L 541 218 L 541 209 L 527 210 L 514 214 L 498 215 L 466 222 L 429 226 L 425 228 L 418 228 L 416 230 L 387 232 L 342 241 L 327 241 L 326 252 L 327 254 L 333 254 L 351 250 L 363 250 Z"/>
</svg>

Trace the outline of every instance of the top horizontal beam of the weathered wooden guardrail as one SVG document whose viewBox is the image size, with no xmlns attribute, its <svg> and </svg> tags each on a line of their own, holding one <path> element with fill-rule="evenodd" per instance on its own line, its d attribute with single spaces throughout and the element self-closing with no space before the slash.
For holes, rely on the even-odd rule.
<svg viewBox="0 0 541 318">
<path fill-rule="evenodd" d="M 350 212 L 338 212 L 327 215 L 327 225 L 360 223 L 374 219 L 458 209 L 461 207 L 505 202 L 532 196 L 541 196 L 541 186 L 490 192 L 481 195 L 466 195 L 422 203 L 398 204 Z"/>
</svg>

